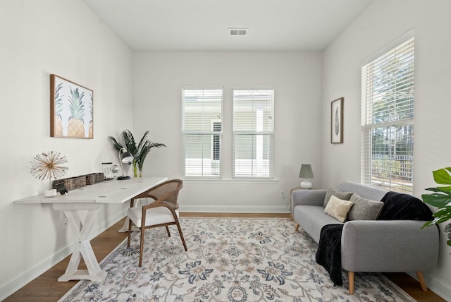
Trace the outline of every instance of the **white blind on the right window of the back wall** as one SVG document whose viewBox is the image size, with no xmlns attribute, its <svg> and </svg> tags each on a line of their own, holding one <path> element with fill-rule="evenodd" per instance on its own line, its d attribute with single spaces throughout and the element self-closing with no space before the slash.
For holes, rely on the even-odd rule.
<svg viewBox="0 0 451 302">
<path fill-rule="evenodd" d="M 273 178 L 274 89 L 233 88 L 234 178 Z"/>
</svg>

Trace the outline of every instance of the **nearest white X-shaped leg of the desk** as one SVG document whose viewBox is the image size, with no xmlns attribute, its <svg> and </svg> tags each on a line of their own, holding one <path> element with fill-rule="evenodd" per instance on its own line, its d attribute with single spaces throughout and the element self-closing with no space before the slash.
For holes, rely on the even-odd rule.
<svg viewBox="0 0 451 302">
<path fill-rule="evenodd" d="M 99 203 L 54 203 L 54 209 L 64 212 L 68 219 L 70 229 L 73 231 L 78 243 L 75 244 L 72 256 L 66 272 L 58 278 L 59 282 L 69 280 L 101 281 L 106 277 L 106 272 L 100 269 L 94 250 L 89 242 L 89 234 L 94 228 L 94 222 L 99 212 Z M 83 223 L 79 211 L 87 210 L 87 216 Z M 78 270 L 80 260 L 83 258 L 87 270 Z"/>
</svg>

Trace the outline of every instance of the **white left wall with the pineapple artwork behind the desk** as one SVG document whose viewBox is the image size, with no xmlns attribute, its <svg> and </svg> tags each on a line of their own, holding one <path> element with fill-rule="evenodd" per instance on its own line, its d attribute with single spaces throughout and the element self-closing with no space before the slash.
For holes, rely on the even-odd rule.
<svg viewBox="0 0 451 302">
<path fill-rule="evenodd" d="M 14 205 L 42 193 L 30 174 L 42 151 L 68 158 L 68 174 L 116 161 L 108 135 L 132 125 L 132 52 L 80 0 L 0 1 L 0 300 L 68 255 L 74 238 L 50 205 Z M 50 137 L 50 74 L 94 90 L 94 139 Z M 123 217 L 104 207 L 97 227 Z"/>
</svg>

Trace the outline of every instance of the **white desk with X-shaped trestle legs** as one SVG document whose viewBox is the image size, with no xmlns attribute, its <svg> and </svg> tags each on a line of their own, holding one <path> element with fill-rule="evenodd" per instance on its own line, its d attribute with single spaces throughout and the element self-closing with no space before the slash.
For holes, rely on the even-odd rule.
<svg viewBox="0 0 451 302">
<path fill-rule="evenodd" d="M 89 234 L 94 228 L 99 208 L 104 203 L 125 203 L 166 179 L 166 177 L 143 177 L 123 181 L 104 181 L 70 191 L 67 195 L 58 194 L 54 198 L 36 195 L 15 200 L 14 203 L 19 205 L 51 203 L 55 210 L 63 211 L 66 215 L 70 229 L 75 238 L 78 238 L 78 244 L 75 245 L 66 272 L 58 278 L 58 281 L 81 279 L 101 281 L 106 277 L 106 272 L 100 269 L 89 242 Z M 85 222 L 80 220 L 79 211 L 87 211 Z M 87 270 L 78 270 L 81 258 L 85 260 Z"/>
</svg>

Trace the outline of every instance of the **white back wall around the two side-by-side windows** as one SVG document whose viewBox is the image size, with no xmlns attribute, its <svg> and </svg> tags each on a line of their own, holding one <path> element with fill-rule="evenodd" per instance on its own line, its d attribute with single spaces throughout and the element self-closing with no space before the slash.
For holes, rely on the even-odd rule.
<svg viewBox="0 0 451 302">
<path fill-rule="evenodd" d="M 223 85 L 223 176 L 229 181 L 185 181 L 181 210 L 288 212 L 290 189 L 299 186 L 299 168 L 310 163 L 321 181 L 318 116 L 321 111 L 321 53 L 311 52 L 140 52 L 134 56 L 137 135 L 168 147 L 152 150 L 144 175 L 181 176 L 181 87 Z M 231 179 L 233 85 L 275 87 L 275 167 L 278 181 Z M 138 134 L 139 133 L 139 134 Z M 285 200 L 278 197 L 285 191 Z"/>
</svg>

